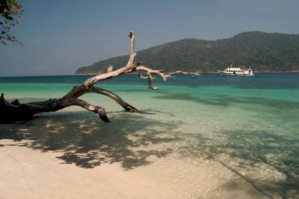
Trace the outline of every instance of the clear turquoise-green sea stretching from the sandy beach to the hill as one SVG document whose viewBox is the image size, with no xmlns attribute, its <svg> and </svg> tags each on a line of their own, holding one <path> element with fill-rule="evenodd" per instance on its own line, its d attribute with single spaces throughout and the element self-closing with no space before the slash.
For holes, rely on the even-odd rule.
<svg viewBox="0 0 299 199">
<path fill-rule="evenodd" d="M 23 103 L 59 99 L 91 77 L 0 77 L 0 93 Z M 95 85 L 142 113 L 86 94 L 80 99 L 104 107 L 111 122 L 70 106 L 0 130 L 26 128 L 6 139 L 32 138 L 33 148 L 62 150 L 57 158 L 78 167 L 120 164 L 177 198 L 299 199 L 299 73 L 177 74 L 156 77 L 160 90 L 147 84 L 130 74 Z"/>
</svg>

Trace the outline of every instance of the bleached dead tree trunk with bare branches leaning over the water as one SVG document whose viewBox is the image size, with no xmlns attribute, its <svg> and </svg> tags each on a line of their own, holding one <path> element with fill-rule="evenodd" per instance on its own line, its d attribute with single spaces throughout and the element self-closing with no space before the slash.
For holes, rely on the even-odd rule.
<svg viewBox="0 0 299 199">
<path fill-rule="evenodd" d="M 154 79 L 154 77 L 151 77 L 152 74 L 161 76 L 164 81 L 166 81 L 168 78 L 173 78 L 172 75 L 176 73 L 188 74 L 186 72 L 176 71 L 166 75 L 162 73 L 162 70 L 159 71 L 151 70 L 145 66 L 142 66 L 140 62 L 133 63 L 134 58 L 136 56 L 136 53 L 134 52 L 135 38 L 133 35 L 133 31 L 130 31 L 128 36 L 131 38 L 131 54 L 127 66 L 120 68 L 117 71 L 112 71 L 113 66 L 110 66 L 108 68 L 107 73 L 92 77 L 86 80 L 85 83 L 82 84 L 81 86 L 75 85 L 73 89 L 61 99 L 49 99 L 46 101 L 35 101 L 30 103 L 21 103 L 19 100 L 16 99 L 9 103 L 4 99 L 4 95 L 1 94 L 0 123 L 14 123 L 17 121 L 29 120 L 36 113 L 55 112 L 57 110 L 63 109 L 71 105 L 81 106 L 92 112 L 99 113 L 100 118 L 103 121 L 108 122 L 109 119 L 106 115 L 105 108 L 101 106 L 89 104 L 88 102 L 84 100 L 79 100 L 78 98 L 87 93 L 97 93 L 97 94 L 108 96 L 109 98 L 115 100 L 127 111 L 139 112 L 139 110 L 133 107 L 132 105 L 128 104 L 124 100 L 122 100 L 119 96 L 112 93 L 111 91 L 94 87 L 96 83 L 118 77 L 125 73 L 138 72 L 140 79 L 149 80 L 149 86 L 148 86 L 149 89 L 157 90 L 159 88 L 151 87 L 151 82 Z M 146 72 L 148 77 L 142 76 L 140 73 L 141 71 Z"/>
</svg>

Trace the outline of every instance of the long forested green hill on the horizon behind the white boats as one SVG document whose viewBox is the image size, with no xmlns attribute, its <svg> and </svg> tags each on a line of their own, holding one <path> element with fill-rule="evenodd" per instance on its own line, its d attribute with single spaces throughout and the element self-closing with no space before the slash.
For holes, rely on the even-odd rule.
<svg viewBox="0 0 299 199">
<path fill-rule="evenodd" d="M 99 74 L 128 63 L 129 55 L 101 60 L 75 74 Z M 233 64 L 254 71 L 299 71 L 299 34 L 243 32 L 228 39 L 182 39 L 137 52 L 135 61 L 163 72 L 216 72 Z"/>
</svg>

